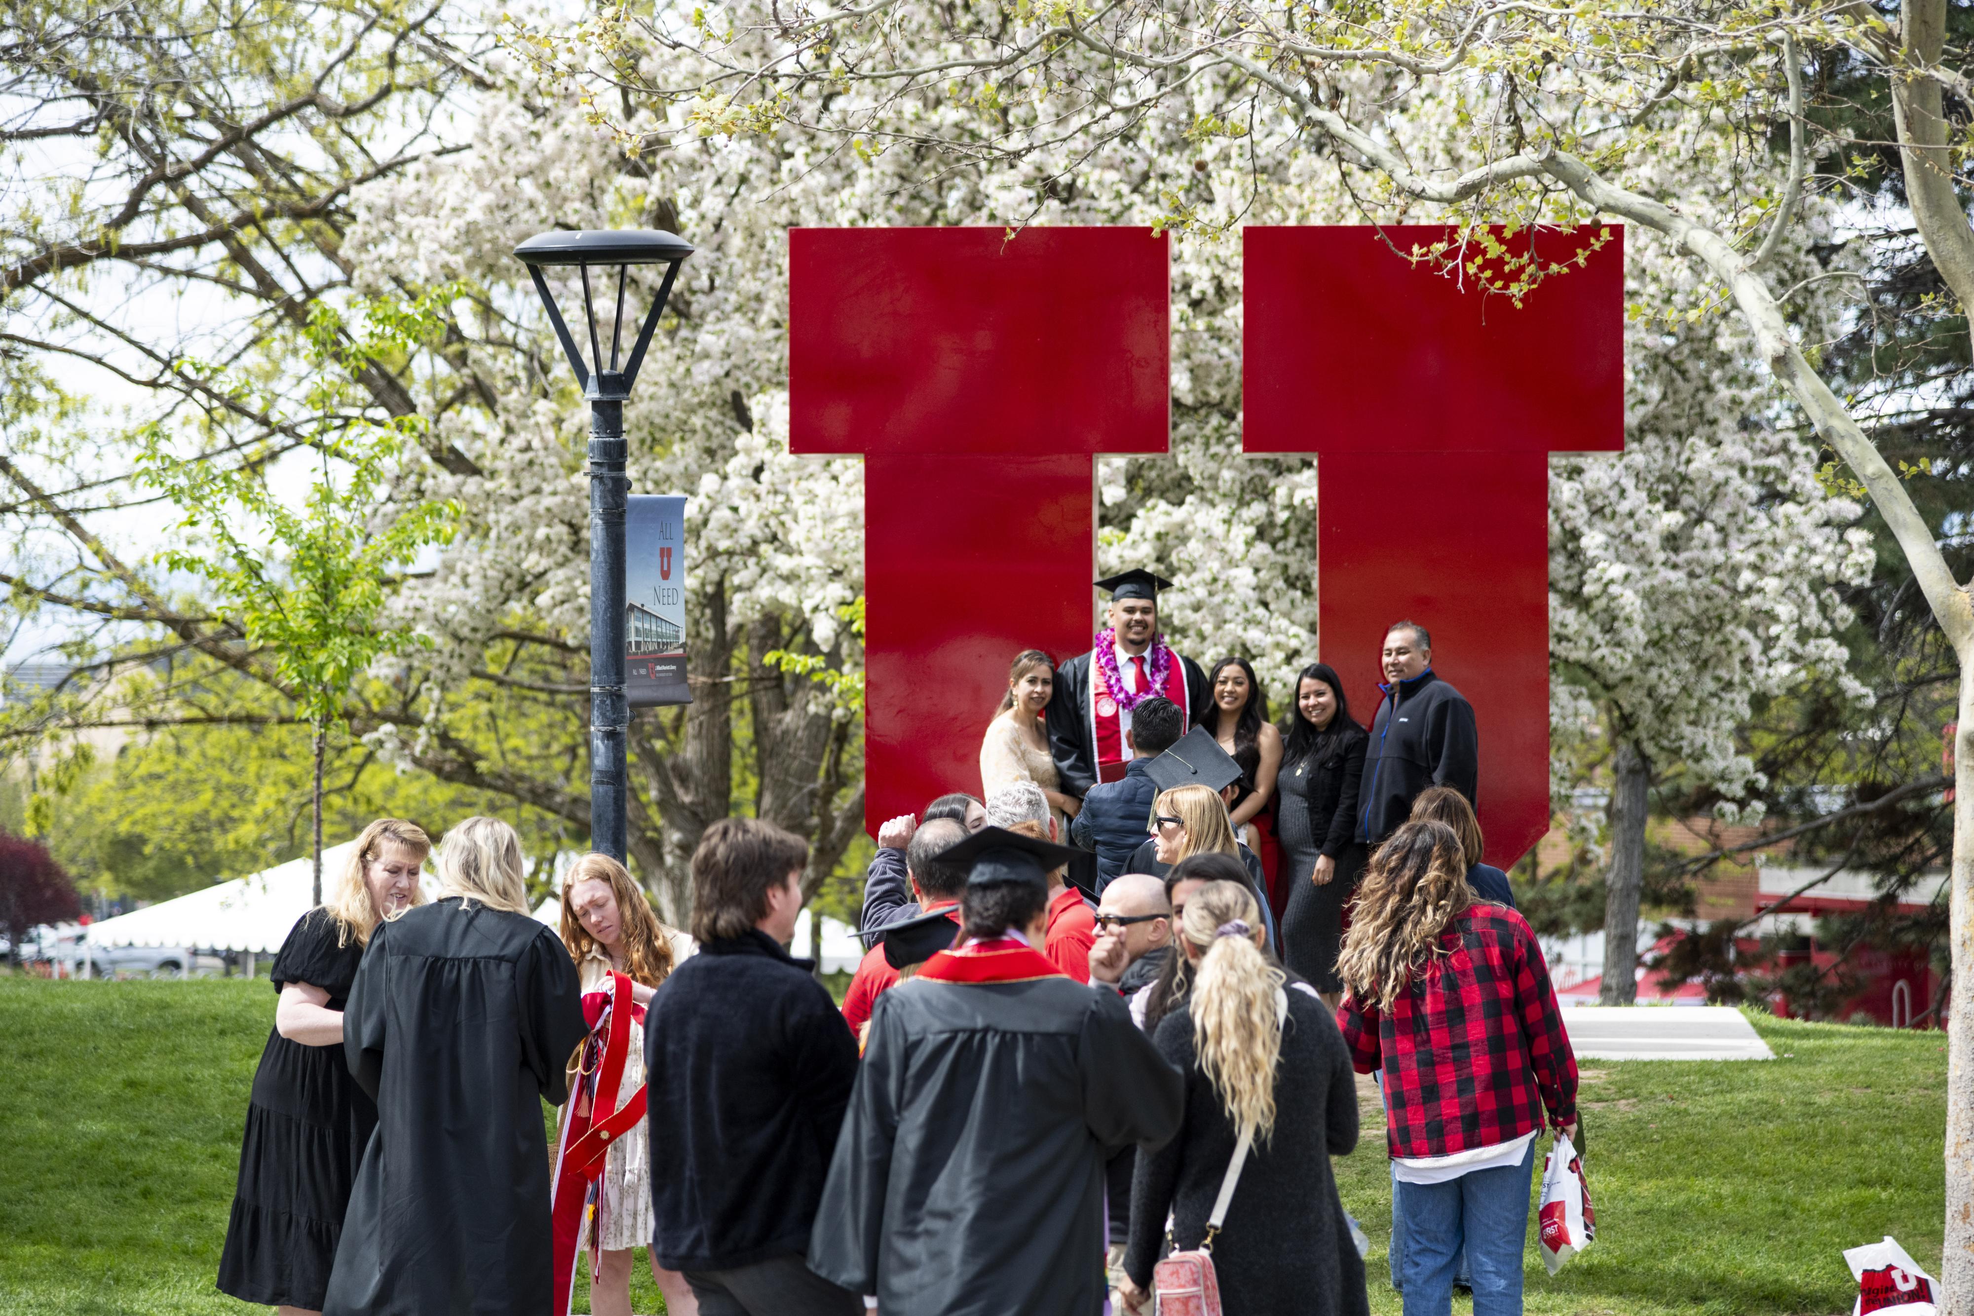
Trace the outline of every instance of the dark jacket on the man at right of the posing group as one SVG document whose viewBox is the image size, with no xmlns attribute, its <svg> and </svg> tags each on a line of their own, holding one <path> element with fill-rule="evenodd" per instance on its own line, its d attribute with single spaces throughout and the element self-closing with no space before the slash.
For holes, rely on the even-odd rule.
<svg viewBox="0 0 1974 1316">
<path fill-rule="evenodd" d="M 1467 696 L 1421 671 L 1386 700 L 1370 724 L 1364 785 L 1358 791 L 1356 839 L 1378 844 L 1411 817 L 1411 801 L 1429 785 L 1451 785 L 1479 805 L 1480 736 Z"/>
</svg>

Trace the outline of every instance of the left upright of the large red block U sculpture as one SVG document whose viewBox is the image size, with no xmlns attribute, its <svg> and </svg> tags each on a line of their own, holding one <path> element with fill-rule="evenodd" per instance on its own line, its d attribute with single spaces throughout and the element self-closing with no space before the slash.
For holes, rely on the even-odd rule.
<svg viewBox="0 0 1974 1316">
<path fill-rule="evenodd" d="M 790 448 L 865 458 L 865 821 L 979 791 L 1021 649 L 1090 647 L 1098 454 L 1165 452 L 1149 229 L 796 229 Z"/>
</svg>

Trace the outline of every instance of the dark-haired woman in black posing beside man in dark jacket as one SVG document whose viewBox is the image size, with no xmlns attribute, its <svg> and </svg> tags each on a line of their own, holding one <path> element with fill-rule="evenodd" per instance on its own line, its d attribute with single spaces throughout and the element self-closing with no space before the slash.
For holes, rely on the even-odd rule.
<svg viewBox="0 0 1974 1316">
<path fill-rule="evenodd" d="M 1364 870 L 1364 846 L 1354 835 L 1370 736 L 1350 718 L 1344 683 L 1329 663 L 1311 663 L 1295 679 L 1287 740 L 1277 777 L 1281 854 L 1289 864 L 1281 941 L 1289 969 L 1334 1010 L 1344 990 L 1336 977 L 1344 906 Z"/>
</svg>

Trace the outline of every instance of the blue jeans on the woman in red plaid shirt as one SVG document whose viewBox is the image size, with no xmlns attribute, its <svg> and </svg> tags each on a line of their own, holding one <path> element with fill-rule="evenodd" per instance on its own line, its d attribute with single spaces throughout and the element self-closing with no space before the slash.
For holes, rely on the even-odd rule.
<svg viewBox="0 0 1974 1316">
<path fill-rule="evenodd" d="M 1530 1140 L 1522 1164 L 1475 1170 L 1445 1184 L 1394 1184 L 1394 1235 L 1404 1225 L 1405 1316 L 1453 1310 L 1453 1267 L 1467 1249 L 1475 1316 L 1522 1316 L 1522 1251 L 1528 1245 Z M 1396 1253 L 1396 1241 L 1394 1241 Z"/>
</svg>

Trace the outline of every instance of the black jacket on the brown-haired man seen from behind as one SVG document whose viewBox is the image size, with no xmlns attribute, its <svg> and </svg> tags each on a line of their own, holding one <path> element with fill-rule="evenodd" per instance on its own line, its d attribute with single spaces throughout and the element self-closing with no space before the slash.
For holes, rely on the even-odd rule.
<svg viewBox="0 0 1974 1316">
<path fill-rule="evenodd" d="M 657 1263 L 807 1251 L 857 1081 L 857 1040 L 809 961 L 764 931 L 707 941 L 657 988 L 644 1038 Z"/>
</svg>

